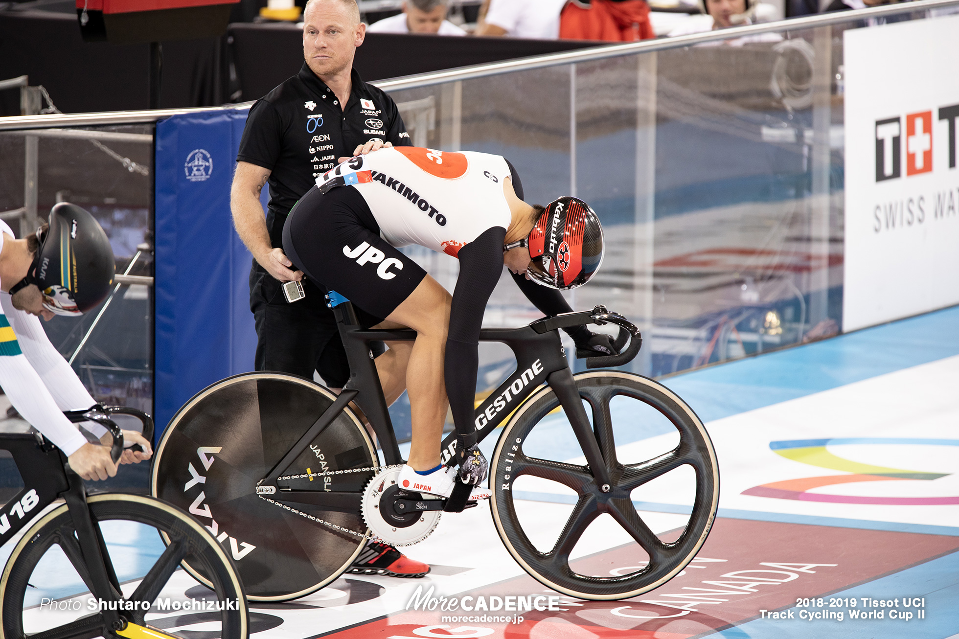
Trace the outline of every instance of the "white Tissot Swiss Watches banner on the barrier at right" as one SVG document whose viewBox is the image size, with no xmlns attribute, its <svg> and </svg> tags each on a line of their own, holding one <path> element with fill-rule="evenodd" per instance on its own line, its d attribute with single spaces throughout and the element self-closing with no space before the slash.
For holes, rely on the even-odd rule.
<svg viewBox="0 0 959 639">
<path fill-rule="evenodd" d="M 845 39 L 843 330 L 959 303 L 959 15 Z"/>
</svg>

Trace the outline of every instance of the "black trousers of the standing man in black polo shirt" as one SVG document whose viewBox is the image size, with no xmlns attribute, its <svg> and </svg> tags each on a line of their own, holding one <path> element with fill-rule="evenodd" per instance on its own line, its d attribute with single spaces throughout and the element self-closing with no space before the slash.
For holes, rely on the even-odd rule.
<svg viewBox="0 0 959 639">
<path fill-rule="evenodd" d="M 313 379 L 313 372 L 331 388 L 342 388 L 350 377 L 346 351 L 339 339 L 333 311 L 326 307 L 325 289 L 304 280 L 306 297 L 289 303 L 281 285 L 259 264 L 249 272 L 249 309 L 256 325 L 257 370 L 277 370 Z M 363 325 L 380 319 L 356 309 Z M 374 356 L 384 352 L 383 343 L 371 344 Z"/>
</svg>

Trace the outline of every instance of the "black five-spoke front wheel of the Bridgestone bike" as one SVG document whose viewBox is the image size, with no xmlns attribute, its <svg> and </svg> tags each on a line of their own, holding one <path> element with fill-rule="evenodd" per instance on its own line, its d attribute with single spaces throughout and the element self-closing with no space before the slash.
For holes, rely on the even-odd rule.
<svg viewBox="0 0 959 639">
<path fill-rule="evenodd" d="M 531 577 L 553 590 L 588 600 L 618 600 L 635 597 L 675 577 L 706 541 L 719 501 L 719 470 L 713 443 L 702 421 L 689 406 L 665 386 L 650 379 L 615 370 L 575 375 L 580 395 L 593 409 L 594 432 L 614 483 L 603 492 L 588 466 L 564 462 L 581 451 L 577 448 L 559 460 L 527 457 L 524 444 L 559 400 L 550 387 L 533 394 L 503 428 L 490 465 L 493 488 L 493 520 L 506 550 Z M 679 433 L 679 444 L 664 455 L 639 463 L 620 463 L 613 437 L 610 401 L 622 395 L 643 402 L 668 420 Z M 589 407 L 587 408 L 589 412 Z M 643 522 L 633 505 L 632 490 L 683 465 L 695 471 L 695 497 L 689 523 L 679 538 L 665 543 Z M 572 488 L 576 493 L 573 512 L 549 552 L 530 541 L 518 516 L 513 485 L 523 475 L 533 475 Z M 570 553 L 583 532 L 600 514 L 608 513 L 633 537 L 649 556 L 641 569 L 625 575 L 581 575 L 570 566 Z M 574 562 L 574 561 L 573 561 Z M 635 560 L 627 561 L 637 563 Z M 635 566 L 634 566 L 635 567 Z"/>
</svg>

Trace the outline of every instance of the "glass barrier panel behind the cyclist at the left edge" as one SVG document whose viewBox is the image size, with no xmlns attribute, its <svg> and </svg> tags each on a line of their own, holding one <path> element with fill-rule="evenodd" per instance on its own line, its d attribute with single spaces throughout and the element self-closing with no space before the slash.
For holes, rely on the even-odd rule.
<svg viewBox="0 0 959 639">
<path fill-rule="evenodd" d="M 152 125 L 0 131 L 5 221 L 23 237 L 57 202 L 79 204 L 103 226 L 117 273 L 152 277 L 152 138 Z M 117 283 L 82 318 L 43 325 L 94 399 L 152 413 L 152 323 L 152 283 Z"/>
</svg>

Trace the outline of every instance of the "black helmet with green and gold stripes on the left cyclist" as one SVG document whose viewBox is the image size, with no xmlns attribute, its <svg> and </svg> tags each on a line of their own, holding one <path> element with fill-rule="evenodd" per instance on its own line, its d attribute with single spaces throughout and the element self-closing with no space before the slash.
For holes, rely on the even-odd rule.
<svg viewBox="0 0 959 639">
<path fill-rule="evenodd" d="M 104 229 L 76 204 L 60 202 L 50 210 L 50 226 L 40 235 L 34 263 L 11 294 L 35 284 L 43 308 L 56 315 L 79 316 L 109 294 L 115 264 Z"/>
</svg>

